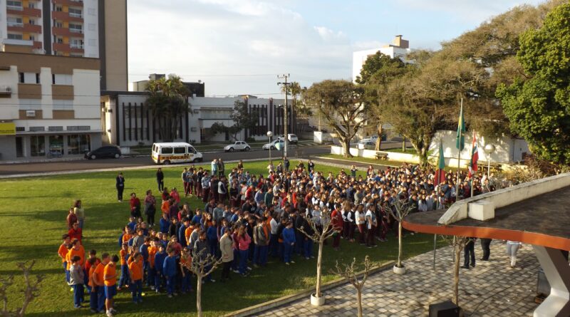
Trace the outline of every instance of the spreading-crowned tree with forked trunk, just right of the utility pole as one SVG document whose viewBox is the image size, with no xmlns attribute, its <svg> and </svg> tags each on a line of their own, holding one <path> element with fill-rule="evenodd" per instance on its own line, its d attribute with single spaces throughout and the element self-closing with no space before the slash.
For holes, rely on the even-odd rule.
<svg viewBox="0 0 570 317">
<path fill-rule="evenodd" d="M 363 89 L 348 80 L 323 80 L 304 93 L 304 102 L 316 109 L 338 135 L 344 157 L 352 157 L 350 145 L 366 122 L 368 105 L 362 103 Z"/>
</svg>

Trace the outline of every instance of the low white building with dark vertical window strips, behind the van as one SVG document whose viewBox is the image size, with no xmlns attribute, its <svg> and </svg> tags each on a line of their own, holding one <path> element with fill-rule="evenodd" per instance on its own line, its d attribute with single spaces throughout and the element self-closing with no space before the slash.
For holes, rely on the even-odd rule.
<svg viewBox="0 0 570 317">
<path fill-rule="evenodd" d="M 146 94 L 143 92 L 104 92 L 100 99 L 101 127 L 103 142 L 130 147 L 151 145 L 160 142 L 157 124 L 152 111 L 145 105 Z M 240 140 L 252 137 L 266 140 L 266 132 L 271 130 L 275 135 L 283 133 L 285 100 L 273 98 L 257 98 L 252 95 L 236 97 L 197 97 L 188 99 L 191 108 L 187 115 L 178 120 L 178 137 L 175 142 L 207 143 L 225 142 L 231 137 L 224 133 L 214 133 L 214 123 L 233 125 L 230 118 L 236 101 L 244 102 L 251 113 L 257 113 L 258 125 L 251 130 L 239 133 Z M 291 107 L 291 105 L 289 105 Z M 288 125 L 294 125 L 294 115 L 289 111 Z"/>
</svg>

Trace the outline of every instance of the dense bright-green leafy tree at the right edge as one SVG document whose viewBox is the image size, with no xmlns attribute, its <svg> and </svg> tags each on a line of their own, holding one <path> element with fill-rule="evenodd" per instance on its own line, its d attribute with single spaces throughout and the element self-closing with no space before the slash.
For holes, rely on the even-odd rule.
<svg viewBox="0 0 570 317">
<path fill-rule="evenodd" d="M 517 60 L 524 69 L 511 85 L 500 85 L 510 128 L 539 158 L 570 165 L 570 4 L 557 6 L 544 25 L 520 37 Z"/>
</svg>

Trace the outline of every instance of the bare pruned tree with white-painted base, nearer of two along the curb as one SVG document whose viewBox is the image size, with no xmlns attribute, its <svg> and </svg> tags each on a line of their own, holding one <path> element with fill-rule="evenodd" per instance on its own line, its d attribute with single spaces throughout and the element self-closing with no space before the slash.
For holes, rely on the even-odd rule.
<svg viewBox="0 0 570 317">
<path fill-rule="evenodd" d="M 339 229 L 333 227 L 331 213 L 328 209 L 323 209 L 321 212 L 321 217 L 315 219 L 316 217 L 307 217 L 307 223 L 309 223 L 310 228 L 299 228 L 299 232 L 302 232 L 309 239 L 318 243 L 318 256 L 316 258 L 316 291 L 315 297 L 321 297 L 321 269 L 323 264 L 323 244 L 325 240 L 333 237 L 333 234 L 338 234 Z"/>
</svg>

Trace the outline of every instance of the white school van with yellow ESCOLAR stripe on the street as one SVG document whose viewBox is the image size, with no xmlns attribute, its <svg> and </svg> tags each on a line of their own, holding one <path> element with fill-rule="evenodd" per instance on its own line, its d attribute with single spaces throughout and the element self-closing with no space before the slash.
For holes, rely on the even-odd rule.
<svg viewBox="0 0 570 317">
<path fill-rule="evenodd" d="M 152 144 L 152 161 L 156 164 L 202 162 L 202 153 L 184 142 L 165 142 Z"/>
</svg>

